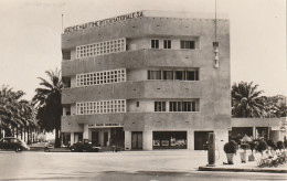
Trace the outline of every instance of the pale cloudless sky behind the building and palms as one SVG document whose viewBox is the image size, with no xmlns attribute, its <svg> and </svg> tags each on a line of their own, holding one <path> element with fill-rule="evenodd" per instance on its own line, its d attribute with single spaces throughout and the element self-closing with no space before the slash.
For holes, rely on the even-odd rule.
<svg viewBox="0 0 287 181">
<path fill-rule="evenodd" d="M 215 0 L 1 0 L 0 86 L 31 99 L 45 71 L 61 68 L 65 26 L 139 10 L 214 13 Z M 231 33 L 231 83 L 254 82 L 264 95 L 287 95 L 286 1 L 217 0 Z"/>
</svg>

